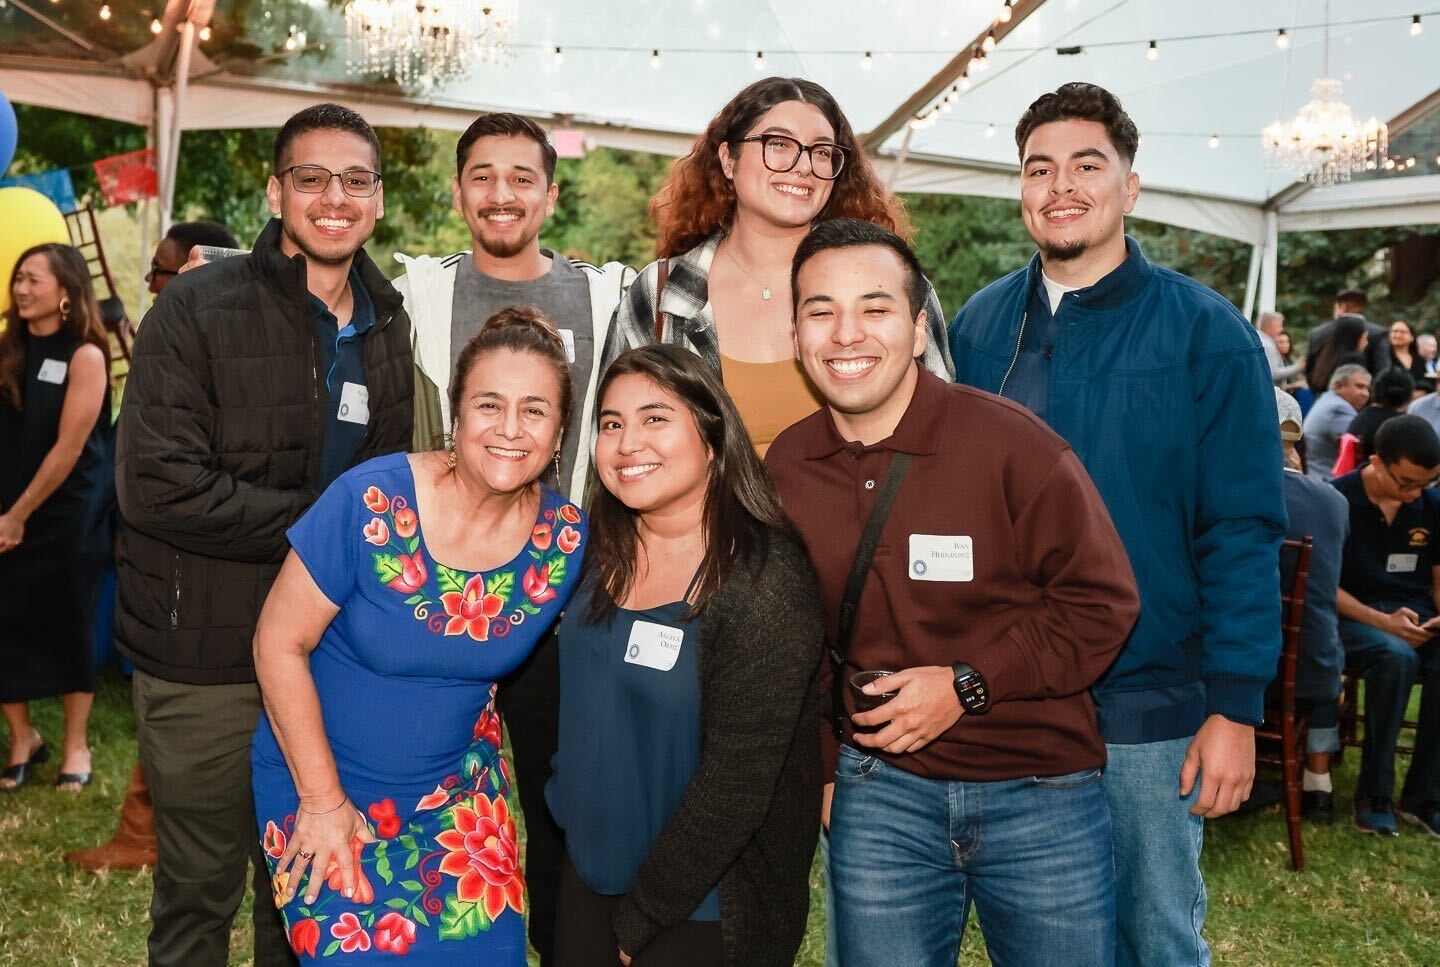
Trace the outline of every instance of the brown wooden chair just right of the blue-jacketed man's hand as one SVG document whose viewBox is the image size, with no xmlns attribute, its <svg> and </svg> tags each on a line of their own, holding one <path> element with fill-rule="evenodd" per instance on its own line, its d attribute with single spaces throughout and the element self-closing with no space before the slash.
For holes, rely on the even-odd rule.
<svg viewBox="0 0 1440 967">
<path fill-rule="evenodd" d="M 1309 712 L 1296 708 L 1295 669 L 1300 659 L 1300 617 L 1305 612 L 1305 583 L 1310 577 L 1313 547 L 1315 538 L 1306 537 L 1299 541 L 1284 541 L 1280 548 L 1282 555 L 1295 554 L 1295 574 L 1289 587 L 1283 583 L 1280 587 L 1280 665 L 1276 669 L 1279 689 L 1266 702 L 1264 721 L 1256 730 L 1256 761 L 1279 766 L 1284 777 L 1284 823 L 1290 835 L 1290 868 L 1296 872 L 1305 869 L 1300 784 Z M 1279 704 L 1273 704 L 1276 699 Z"/>
</svg>

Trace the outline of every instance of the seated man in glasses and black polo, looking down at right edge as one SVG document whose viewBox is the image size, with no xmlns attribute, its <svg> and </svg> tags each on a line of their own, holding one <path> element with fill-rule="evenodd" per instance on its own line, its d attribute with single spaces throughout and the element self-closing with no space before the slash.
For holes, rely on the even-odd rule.
<svg viewBox="0 0 1440 967">
<path fill-rule="evenodd" d="M 1395 743 L 1410 689 L 1440 685 L 1440 436 L 1423 417 L 1397 416 L 1375 453 L 1332 481 L 1349 502 L 1338 594 L 1345 662 L 1365 675 L 1365 744 L 1355 783 L 1355 829 L 1394 836 Z M 1400 817 L 1440 836 L 1440 702 L 1421 694 L 1416 754 Z"/>
</svg>

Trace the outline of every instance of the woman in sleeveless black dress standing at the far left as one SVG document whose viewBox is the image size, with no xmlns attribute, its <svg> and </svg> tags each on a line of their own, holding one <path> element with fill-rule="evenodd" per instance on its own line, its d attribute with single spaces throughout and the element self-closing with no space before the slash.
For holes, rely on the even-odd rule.
<svg viewBox="0 0 1440 967">
<path fill-rule="evenodd" d="M 55 784 L 89 783 L 95 695 L 92 535 L 108 466 L 109 358 L 89 269 L 68 245 L 37 245 L 10 276 L 0 334 L 0 708 L 10 758 L 0 790 L 49 750 L 26 702 L 62 695 Z"/>
</svg>

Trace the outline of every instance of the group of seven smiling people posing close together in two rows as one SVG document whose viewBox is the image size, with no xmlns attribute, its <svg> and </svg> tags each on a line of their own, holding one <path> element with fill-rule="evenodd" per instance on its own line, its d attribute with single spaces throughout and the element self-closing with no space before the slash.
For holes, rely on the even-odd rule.
<svg viewBox="0 0 1440 967">
<path fill-rule="evenodd" d="M 638 273 L 541 248 L 556 153 L 490 114 L 474 250 L 392 283 L 374 132 L 292 117 L 274 219 L 168 281 L 121 406 L 150 961 L 225 963 L 253 865 L 256 964 L 518 966 L 526 920 L 557 967 L 791 964 L 819 840 L 834 964 L 953 964 L 971 904 L 996 964 L 1207 964 L 1280 645 L 1272 380 L 1125 235 L 1113 95 L 1015 141 L 1038 252 L 946 325 L 804 79 L 674 164 Z M 59 265 L 6 338 L 26 394 L 69 353 L 68 413 Z"/>
</svg>

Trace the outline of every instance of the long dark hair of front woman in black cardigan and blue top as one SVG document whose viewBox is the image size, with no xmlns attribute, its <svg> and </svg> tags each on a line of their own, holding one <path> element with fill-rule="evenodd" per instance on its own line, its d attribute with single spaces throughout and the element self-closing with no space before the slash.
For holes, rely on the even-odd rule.
<svg viewBox="0 0 1440 967">
<path fill-rule="evenodd" d="M 600 380 L 596 400 L 622 376 L 644 376 L 678 399 L 696 420 L 710 452 L 710 484 L 701 518 L 704 558 L 694 600 L 684 619 L 700 614 L 737 561 L 760 566 L 773 531 L 789 534 L 775 485 L 760 466 L 739 410 L 714 370 L 677 345 L 645 345 L 622 353 Z M 599 409 L 599 407 L 596 407 Z M 635 583 L 639 557 L 639 514 L 598 488 L 590 502 L 590 545 L 585 570 L 590 607 L 585 620 L 608 620 Z"/>
</svg>

